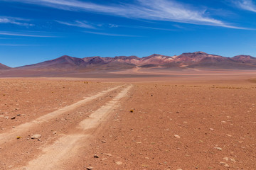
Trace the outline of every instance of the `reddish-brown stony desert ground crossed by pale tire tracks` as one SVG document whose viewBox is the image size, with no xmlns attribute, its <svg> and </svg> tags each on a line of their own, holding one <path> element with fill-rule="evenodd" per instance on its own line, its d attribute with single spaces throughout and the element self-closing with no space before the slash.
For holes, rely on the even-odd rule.
<svg viewBox="0 0 256 170">
<path fill-rule="evenodd" d="M 0 169 L 255 169 L 254 75 L 0 79 Z"/>
</svg>

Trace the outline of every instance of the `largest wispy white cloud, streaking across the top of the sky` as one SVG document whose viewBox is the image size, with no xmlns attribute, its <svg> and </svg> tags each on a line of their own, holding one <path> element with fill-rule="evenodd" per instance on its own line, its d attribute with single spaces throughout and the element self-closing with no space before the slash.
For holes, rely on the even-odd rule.
<svg viewBox="0 0 256 170">
<path fill-rule="evenodd" d="M 176 0 L 135 0 L 135 4 L 95 4 L 85 1 L 68 0 L 9 0 L 27 4 L 50 6 L 70 11 L 90 11 L 105 13 L 112 16 L 122 16 L 132 19 L 151 21 L 172 21 L 177 23 L 191 23 L 206 26 L 220 26 L 225 28 L 239 27 L 208 16 L 207 8 L 194 8 Z"/>
</svg>

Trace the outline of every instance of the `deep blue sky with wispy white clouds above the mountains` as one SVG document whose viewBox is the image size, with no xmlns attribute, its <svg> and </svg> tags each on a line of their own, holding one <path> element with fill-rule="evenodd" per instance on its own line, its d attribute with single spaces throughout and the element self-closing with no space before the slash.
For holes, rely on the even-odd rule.
<svg viewBox="0 0 256 170">
<path fill-rule="evenodd" d="M 0 63 L 203 51 L 256 56 L 256 0 L 0 0 Z"/>
</svg>

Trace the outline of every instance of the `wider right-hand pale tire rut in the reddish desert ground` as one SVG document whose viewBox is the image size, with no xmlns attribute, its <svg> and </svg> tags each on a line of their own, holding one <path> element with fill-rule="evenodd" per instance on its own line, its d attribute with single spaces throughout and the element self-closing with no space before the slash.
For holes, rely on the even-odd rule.
<svg viewBox="0 0 256 170">
<path fill-rule="evenodd" d="M 67 169 L 65 165 L 67 165 L 68 159 L 75 157 L 81 147 L 89 145 L 88 140 L 92 135 L 95 135 L 93 133 L 95 131 L 91 129 L 97 128 L 104 123 L 107 115 L 110 115 L 112 110 L 117 108 L 119 101 L 127 95 L 131 88 L 132 85 L 127 86 L 111 101 L 108 101 L 104 106 L 92 113 L 90 118 L 82 120 L 76 125 L 75 128 L 78 131 L 82 130 L 82 132 L 63 135 L 53 145 L 43 148 L 39 157 L 28 162 L 27 166 L 18 169 Z"/>
</svg>

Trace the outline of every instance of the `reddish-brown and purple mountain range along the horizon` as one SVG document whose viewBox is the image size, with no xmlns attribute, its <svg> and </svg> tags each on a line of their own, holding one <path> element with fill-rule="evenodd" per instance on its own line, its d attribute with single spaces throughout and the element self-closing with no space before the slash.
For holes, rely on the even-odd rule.
<svg viewBox="0 0 256 170">
<path fill-rule="evenodd" d="M 210 55 L 206 52 L 188 52 L 172 57 L 154 54 L 142 58 L 137 56 L 96 56 L 77 58 L 64 55 L 54 60 L 16 67 L 13 69 L 36 69 L 43 71 L 82 71 L 86 69 L 132 69 L 134 67 L 166 69 L 256 69 L 256 57 L 252 57 L 250 55 L 222 57 L 220 55 Z M 5 66 L 4 64 L 0 64 L 0 69 L 11 68 Z"/>
</svg>

